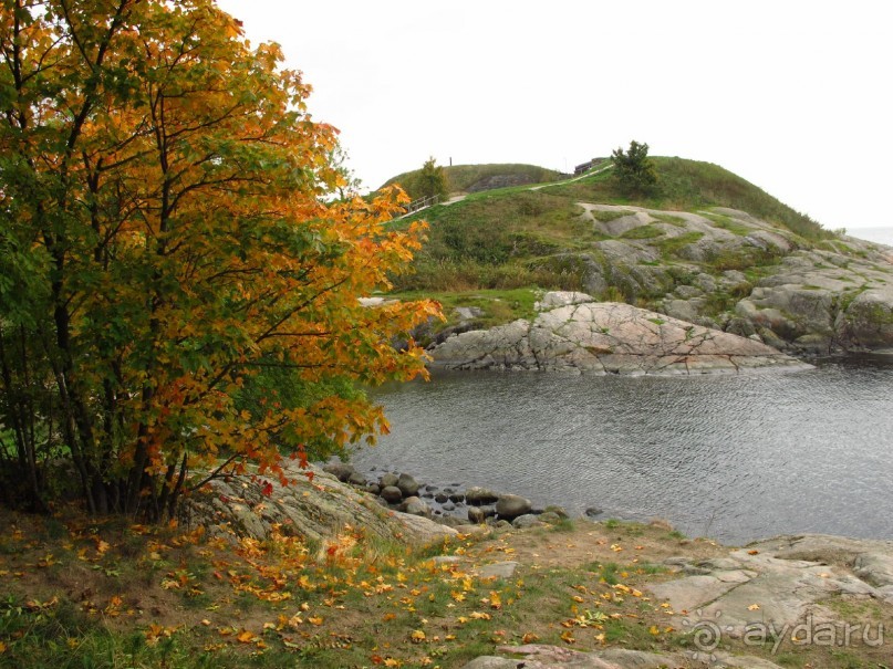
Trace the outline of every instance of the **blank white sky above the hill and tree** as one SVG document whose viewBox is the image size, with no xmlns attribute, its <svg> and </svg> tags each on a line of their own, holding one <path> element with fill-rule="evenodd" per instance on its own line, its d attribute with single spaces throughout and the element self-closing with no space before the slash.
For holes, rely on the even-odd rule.
<svg viewBox="0 0 893 669">
<path fill-rule="evenodd" d="M 893 226 L 889 0 L 218 0 L 279 42 L 367 188 L 553 169 L 631 139 L 716 163 L 828 228 Z"/>
</svg>

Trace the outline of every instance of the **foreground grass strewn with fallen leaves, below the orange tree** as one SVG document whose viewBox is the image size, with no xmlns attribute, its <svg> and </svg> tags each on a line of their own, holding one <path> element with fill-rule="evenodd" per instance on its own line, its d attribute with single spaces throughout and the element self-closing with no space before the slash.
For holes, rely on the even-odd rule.
<svg viewBox="0 0 893 669">
<path fill-rule="evenodd" d="M 669 642 L 643 636 L 637 623 L 608 624 L 609 614 L 638 616 L 647 603 L 637 585 L 647 573 L 636 565 L 491 581 L 432 562 L 444 546 L 368 543 L 355 531 L 320 560 L 282 534 L 230 544 L 175 527 L 87 527 L 92 521 L 77 516 L 62 533 L 24 521 L 12 516 L 3 534 L 11 557 L 0 562 L 9 584 L 0 598 L 0 667 L 459 667 L 498 645 L 532 639 L 583 648 L 609 638 L 648 648 Z M 575 530 L 564 521 L 554 536 Z M 447 552 L 471 546 L 459 541 Z M 59 574 L 46 578 L 50 566 L 34 561 L 50 554 Z M 91 568 L 122 563 L 113 579 Z M 76 584 L 74 596 L 68 583 Z"/>
</svg>

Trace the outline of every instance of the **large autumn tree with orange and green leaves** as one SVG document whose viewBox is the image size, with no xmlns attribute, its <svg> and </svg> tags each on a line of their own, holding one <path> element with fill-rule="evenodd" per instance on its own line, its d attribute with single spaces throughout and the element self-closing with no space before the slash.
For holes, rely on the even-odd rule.
<svg viewBox="0 0 893 669">
<path fill-rule="evenodd" d="M 61 460 L 90 511 L 159 518 L 385 430 L 354 384 L 424 374 L 391 342 L 437 309 L 357 297 L 422 229 L 384 227 L 398 191 L 330 197 L 335 133 L 278 46 L 212 0 L 0 8 L 0 487 L 41 506 Z M 313 391 L 249 403 L 272 368 Z"/>
</svg>

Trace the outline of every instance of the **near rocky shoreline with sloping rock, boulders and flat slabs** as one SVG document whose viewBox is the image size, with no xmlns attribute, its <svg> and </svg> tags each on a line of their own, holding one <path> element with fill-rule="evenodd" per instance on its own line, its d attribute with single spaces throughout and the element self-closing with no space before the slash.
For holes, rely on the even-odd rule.
<svg viewBox="0 0 893 669">
<path fill-rule="evenodd" d="M 637 596 L 644 594 L 654 602 L 660 607 L 662 623 L 682 633 L 679 638 L 685 641 L 678 651 L 640 651 L 609 645 L 579 652 L 568 647 L 537 644 L 506 645 L 495 648 L 498 655 L 471 660 L 466 669 L 508 669 L 519 662 L 531 669 L 708 666 L 779 669 L 781 665 L 747 651 L 759 648 L 762 655 L 775 656 L 782 645 L 801 647 L 807 633 L 816 635 L 812 642 L 818 647 L 827 645 L 827 639 L 838 638 L 829 635 L 841 629 L 859 630 L 859 649 L 866 659 L 889 659 L 883 634 L 893 626 L 893 542 L 797 535 L 777 536 L 736 548 L 708 540 L 686 540 L 660 525 L 625 526 L 605 522 L 562 526 L 558 509 L 537 510 L 516 495 L 498 495 L 474 487 L 461 492 L 457 487 L 454 493 L 461 494 L 463 499 L 453 503 L 457 508 L 459 503 L 465 504 L 469 515 L 446 521 L 456 524 L 457 531 L 444 524 L 443 519 L 437 523 L 424 513 L 399 512 L 401 506 L 412 511 L 413 499 L 427 501 L 420 495 L 432 494 L 430 499 L 436 500 L 437 493 L 445 493 L 445 489 L 435 491 L 408 474 L 394 472 L 382 472 L 377 481 L 363 482 L 360 475 L 354 475 L 355 469 L 343 463 L 332 462 L 326 469 L 329 471 L 311 467 L 312 479 L 290 469 L 289 473 L 295 478 L 288 487 L 260 479 L 215 481 L 212 492 L 189 500 L 187 506 L 191 514 L 185 519 L 189 521 L 187 526 L 200 524 L 211 536 L 258 540 L 273 529 L 290 527 L 289 532 L 318 542 L 320 555 L 325 555 L 325 547 L 332 545 L 326 542 L 336 542 L 344 531 L 360 532 L 366 537 L 390 537 L 416 546 L 445 544 L 463 535 L 479 534 L 484 542 L 480 550 L 464 548 L 454 555 L 438 555 L 433 563 L 446 569 L 460 566 L 466 573 L 494 583 L 526 577 L 543 565 L 573 567 L 574 561 L 592 563 L 594 560 L 602 564 L 619 560 L 614 556 L 625 546 L 631 551 L 627 558 L 642 560 L 643 564 L 653 565 L 654 573 L 658 574 L 641 584 L 642 593 Z M 349 481 L 353 478 L 353 481 L 345 484 L 339 478 Z M 395 484 L 382 488 L 381 483 Z M 366 488 L 378 484 L 380 493 L 396 488 L 401 501 L 387 503 L 382 499 L 376 503 L 366 491 L 359 489 L 361 484 Z M 271 492 L 264 492 L 268 488 Z M 415 494 L 408 494 L 412 492 Z M 449 495 L 447 501 L 450 501 Z M 485 512 L 484 522 L 479 523 L 470 520 L 477 511 L 488 506 L 492 506 L 492 515 L 487 518 Z M 437 514 L 432 512 L 432 516 L 437 518 Z M 513 516 L 511 521 L 510 516 Z M 544 527 L 546 521 L 551 521 L 553 526 L 565 530 L 559 536 L 568 551 L 543 552 L 542 542 L 548 543 L 552 534 L 517 530 L 529 526 L 521 519 L 531 519 L 534 527 L 540 524 Z M 476 520 L 481 521 L 479 515 Z M 511 537 L 511 560 L 500 560 L 498 551 L 491 553 L 487 547 L 488 541 L 503 541 L 500 537 Z M 627 587 L 625 592 L 632 590 Z M 704 630 L 718 636 L 705 638 Z M 728 641 L 721 649 L 718 647 L 720 637 Z M 518 656 L 525 659 L 519 660 Z"/>
</svg>

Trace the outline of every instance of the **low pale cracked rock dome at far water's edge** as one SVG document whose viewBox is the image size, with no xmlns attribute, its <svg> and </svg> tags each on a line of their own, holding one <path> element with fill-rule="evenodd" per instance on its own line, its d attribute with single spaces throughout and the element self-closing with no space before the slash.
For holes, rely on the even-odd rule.
<svg viewBox="0 0 893 669">
<path fill-rule="evenodd" d="M 804 365 L 765 344 L 583 293 L 548 293 L 520 320 L 455 335 L 435 346 L 447 369 L 586 374 L 707 374 Z"/>
</svg>

